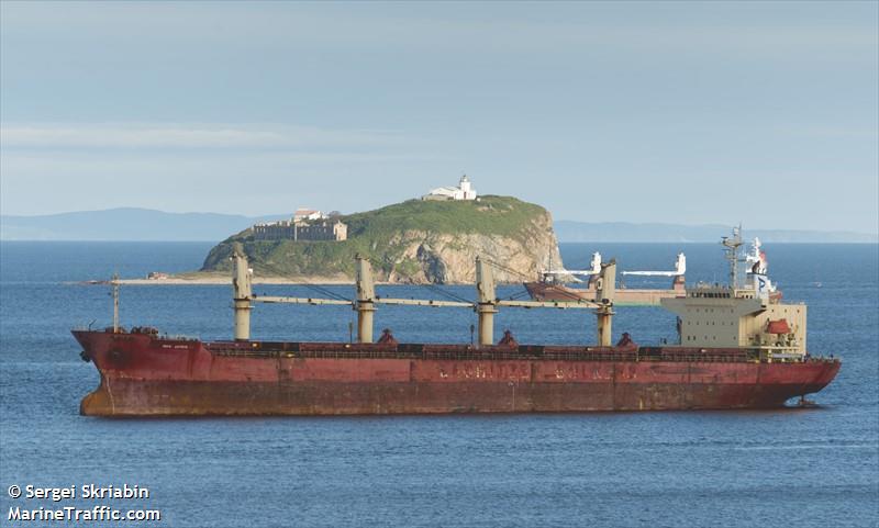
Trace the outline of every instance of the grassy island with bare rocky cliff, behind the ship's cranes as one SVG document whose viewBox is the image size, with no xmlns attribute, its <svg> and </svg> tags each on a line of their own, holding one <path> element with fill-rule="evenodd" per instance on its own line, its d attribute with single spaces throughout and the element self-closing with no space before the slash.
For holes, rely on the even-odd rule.
<svg viewBox="0 0 879 528">
<path fill-rule="evenodd" d="M 249 229 L 215 246 L 202 271 L 229 270 L 232 244 L 244 246 L 257 276 L 312 281 L 354 278 L 354 256 L 372 262 L 376 280 L 403 283 L 472 283 L 477 256 L 496 263 L 499 282 L 537 277 L 561 265 L 549 213 L 509 196 L 419 201 L 347 215 L 344 241 L 255 240 Z"/>
</svg>

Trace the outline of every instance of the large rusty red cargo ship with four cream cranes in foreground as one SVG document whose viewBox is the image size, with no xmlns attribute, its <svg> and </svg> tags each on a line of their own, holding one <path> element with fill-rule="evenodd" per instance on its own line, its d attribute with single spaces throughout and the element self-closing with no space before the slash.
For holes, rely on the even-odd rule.
<svg viewBox="0 0 879 528">
<path fill-rule="evenodd" d="M 679 342 L 638 346 L 628 334 L 611 341 L 615 262 L 602 263 L 593 301 L 502 301 L 491 266 L 476 260 L 472 303 L 376 295 L 368 260 L 356 262 L 356 299 L 257 296 L 246 256 L 233 260 L 234 339 L 202 341 L 119 324 L 75 329 L 81 357 L 100 372 L 80 413 L 90 416 L 371 415 L 558 413 L 593 411 L 782 407 L 821 391 L 839 359 L 806 351 L 806 306 L 781 304 L 761 273 L 738 281 L 741 237 L 725 239 L 727 285 L 698 284 L 663 300 L 678 314 Z M 753 271 L 760 271 L 756 268 Z M 264 341 L 249 335 L 256 303 L 351 304 L 352 342 Z M 390 330 L 372 339 L 377 306 L 468 307 L 478 340 L 398 342 Z M 521 345 L 508 330 L 493 342 L 500 307 L 585 308 L 596 313 L 598 342 Z M 318 310 L 318 308 L 315 308 Z"/>
</svg>

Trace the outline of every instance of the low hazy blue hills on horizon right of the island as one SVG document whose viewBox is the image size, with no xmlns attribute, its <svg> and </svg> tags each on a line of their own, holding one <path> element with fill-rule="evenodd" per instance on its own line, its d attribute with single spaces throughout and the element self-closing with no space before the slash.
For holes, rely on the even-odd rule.
<svg viewBox="0 0 879 528">
<path fill-rule="evenodd" d="M 717 241 L 728 235 L 732 226 L 723 224 L 631 224 L 626 222 L 554 223 L 559 241 Z M 759 237 L 767 243 L 877 243 L 879 235 L 853 232 L 800 229 L 759 229 L 744 226 L 747 238 Z"/>
</svg>

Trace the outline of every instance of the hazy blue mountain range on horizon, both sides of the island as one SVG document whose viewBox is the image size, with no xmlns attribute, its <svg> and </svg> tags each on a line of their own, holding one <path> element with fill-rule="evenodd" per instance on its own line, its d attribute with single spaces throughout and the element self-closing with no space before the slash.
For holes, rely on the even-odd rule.
<svg viewBox="0 0 879 528">
<path fill-rule="evenodd" d="M 244 216 L 219 213 L 165 213 L 148 209 L 110 209 L 42 216 L 0 216 L 3 240 L 204 240 L 220 241 L 257 222 L 290 215 Z M 559 241 L 716 241 L 728 225 L 555 222 Z M 746 227 L 747 237 L 768 243 L 877 243 L 869 233 Z"/>
</svg>

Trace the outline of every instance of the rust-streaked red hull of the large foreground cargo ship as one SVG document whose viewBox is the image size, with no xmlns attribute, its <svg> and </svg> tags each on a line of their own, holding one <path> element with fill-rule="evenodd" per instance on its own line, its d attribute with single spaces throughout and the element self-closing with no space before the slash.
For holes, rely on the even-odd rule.
<svg viewBox="0 0 879 528">
<path fill-rule="evenodd" d="M 74 332 L 98 416 L 519 413 L 778 407 L 838 361 L 737 349 L 209 342 Z"/>
</svg>

